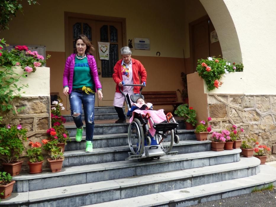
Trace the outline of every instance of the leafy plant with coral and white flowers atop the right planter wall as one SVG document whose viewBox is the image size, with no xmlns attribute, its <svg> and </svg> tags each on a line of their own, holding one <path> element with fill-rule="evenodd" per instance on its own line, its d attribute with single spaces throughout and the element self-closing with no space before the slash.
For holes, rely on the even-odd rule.
<svg viewBox="0 0 276 207">
<path fill-rule="evenodd" d="M 224 59 L 216 57 L 208 57 L 207 59 L 198 60 L 196 71 L 201 76 L 207 86 L 208 90 L 219 88 L 223 83 L 219 82 L 220 78 L 227 75 L 229 72 L 243 71 L 243 64 L 235 64 L 227 62 Z"/>
</svg>

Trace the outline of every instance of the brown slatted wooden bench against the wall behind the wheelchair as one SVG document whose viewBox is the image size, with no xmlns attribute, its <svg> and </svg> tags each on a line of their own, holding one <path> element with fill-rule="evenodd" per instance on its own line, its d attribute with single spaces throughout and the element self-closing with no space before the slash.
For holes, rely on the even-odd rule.
<svg viewBox="0 0 276 207">
<path fill-rule="evenodd" d="M 155 105 L 172 105 L 173 111 L 177 106 L 184 104 L 183 102 L 178 102 L 176 91 L 142 91 L 146 102 Z"/>
</svg>

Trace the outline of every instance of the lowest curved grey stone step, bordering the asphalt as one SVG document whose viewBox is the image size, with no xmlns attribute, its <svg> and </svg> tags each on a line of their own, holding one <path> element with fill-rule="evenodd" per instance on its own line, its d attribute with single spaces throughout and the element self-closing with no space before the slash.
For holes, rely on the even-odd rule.
<svg viewBox="0 0 276 207">
<path fill-rule="evenodd" d="M 224 180 L 204 185 L 187 187 L 177 190 L 117 199 L 110 202 L 86 205 L 85 207 L 148 207 L 148 206 L 191 206 L 212 200 L 239 196 L 251 193 L 254 189 L 262 189 L 272 184 L 275 186 L 276 168 L 261 165 L 260 173 L 244 178 Z M 240 204 L 242 206 L 242 204 Z M 250 204 L 248 204 L 250 206 Z"/>
</svg>

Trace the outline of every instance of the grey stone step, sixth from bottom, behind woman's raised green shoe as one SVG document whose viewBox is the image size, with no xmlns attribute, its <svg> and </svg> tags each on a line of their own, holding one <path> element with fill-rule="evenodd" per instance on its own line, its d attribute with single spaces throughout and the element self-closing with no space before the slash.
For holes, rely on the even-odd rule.
<svg viewBox="0 0 276 207">
<path fill-rule="evenodd" d="M 94 125 L 94 135 L 106 135 L 106 134 L 116 134 L 116 133 L 127 133 L 129 126 L 129 119 L 127 119 L 127 123 L 115 124 L 117 119 L 109 119 L 109 120 L 96 120 Z M 178 121 L 179 127 L 178 129 L 185 128 L 184 121 Z M 65 128 L 69 132 L 70 137 L 76 136 L 76 126 L 74 122 L 66 122 L 64 124 Z M 83 125 L 83 136 L 85 136 L 85 123 Z"/>
</svg>

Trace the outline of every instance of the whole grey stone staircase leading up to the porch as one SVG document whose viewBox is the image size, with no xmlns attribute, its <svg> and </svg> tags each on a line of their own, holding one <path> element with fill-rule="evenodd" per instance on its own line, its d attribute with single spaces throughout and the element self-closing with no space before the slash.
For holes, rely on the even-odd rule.
<svg viewBox="0 0 276 207">
<path fill-rule="evenodd" d="M 14 176 L 14 193 L 0 206 L 189 206 L 275 185 L 275 168 L 240 157 L 240 149 L 210 151 L 211 142 L 197 141 L 181 120 L 180 142 L 172 148 L 177 155 L 137 161 L 125 160 L 128 123 L 114 124 L 113 107 L 95 108 L 91 153 L 85 153 L 85 127 L 83 140 L 76 142 L 75 125 L 65 117 L 71 142 L 62 171 Z"/>
</svg>

